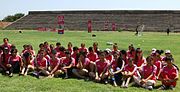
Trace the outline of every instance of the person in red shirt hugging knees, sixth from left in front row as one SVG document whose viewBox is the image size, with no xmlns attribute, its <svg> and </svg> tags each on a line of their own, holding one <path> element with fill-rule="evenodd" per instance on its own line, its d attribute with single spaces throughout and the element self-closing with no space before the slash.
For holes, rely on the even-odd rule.
<svg viewBox="0 0 180 92">
<path fill-rule="evenodd" d="M 68 78 L 71 74 L 72 74 L 72 68 L 75 67 L 75 59 L 71 57 L 71 53 L 70 51 L 65 51 L 66 57 L 62 57 L 60 58 L 60 69 L 62 72 L 59 72 L 59 74 L 61 73 L 65 73 L 65 79 Z"/>
</svg>

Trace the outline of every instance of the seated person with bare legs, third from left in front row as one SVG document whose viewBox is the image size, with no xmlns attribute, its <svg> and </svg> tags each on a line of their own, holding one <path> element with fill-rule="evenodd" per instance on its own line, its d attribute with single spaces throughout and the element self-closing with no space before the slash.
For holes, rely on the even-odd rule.
<svg viewBox="0 0 180 92">
<path fill-rule="evenodd" d="M 29 70 L 34 70 L 34 56 L 30 52 L 25 52 L 22 56 L 23 68 L 20 75 L 26 76 Z"/>
</svg>

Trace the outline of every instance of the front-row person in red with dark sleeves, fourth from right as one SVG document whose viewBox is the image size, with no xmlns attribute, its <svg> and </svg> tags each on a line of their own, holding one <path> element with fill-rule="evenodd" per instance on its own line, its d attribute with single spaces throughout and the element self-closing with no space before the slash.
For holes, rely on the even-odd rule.
<svg viewBox="0 0 180 92">
<path fill-rule="evenodd" d="M 118 52 L 114 52 L 113 56 L 114 56 L 114 59 L 109 66 L 109 73 L 113 81 L 113 85 L 116 87 L 117 83 L 119 84 L 121 80 L 121 77 L 122 77 L 121 72 L 124 68 L 125 62 L 121 57 L 119 57 Z"/>
</svg>

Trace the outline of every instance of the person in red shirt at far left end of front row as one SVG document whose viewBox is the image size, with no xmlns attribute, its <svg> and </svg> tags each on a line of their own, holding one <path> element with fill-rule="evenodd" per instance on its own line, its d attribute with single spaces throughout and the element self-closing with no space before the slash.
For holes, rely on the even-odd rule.
<svg viewBox="0 0 180 92">
<path fill-rule="evenodd" d="M 7 71 L 7 64 L 10 56 L 11 54 L 9 53 L 8 48 L 4 47 L 0 57 L 0 67 L 3 69 L 3 73 L 7 72 L 7 74 L 9 74 Z"/>
</svg>

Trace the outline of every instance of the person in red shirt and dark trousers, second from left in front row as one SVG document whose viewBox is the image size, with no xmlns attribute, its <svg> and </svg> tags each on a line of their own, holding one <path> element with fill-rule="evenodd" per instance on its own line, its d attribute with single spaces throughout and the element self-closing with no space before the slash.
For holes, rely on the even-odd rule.
<svg viewBox="0 0 180 92">
<path fill-rule="evenodd" d="M 22 70 L 22 58 L 17 55 L 17 52 L 17 49 L 12 49 L 11 56 L 8 59 L 7 67 L 9 69 L 9 77 L 12 77 L 14 72 L 19 73 Z"/>
</svg>

